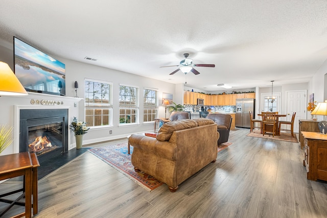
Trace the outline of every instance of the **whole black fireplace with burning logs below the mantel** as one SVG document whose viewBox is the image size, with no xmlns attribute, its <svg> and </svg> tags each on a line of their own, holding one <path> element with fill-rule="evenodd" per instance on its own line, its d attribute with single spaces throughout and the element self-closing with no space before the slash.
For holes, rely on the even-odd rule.
<svg viewBox="0 0 327 218">
<path fill-rule="evenodd" d="M 68 109 L 22 109 L 19 113 L 19 152 L 36 153 L 42 163 L 68 151 Z"/>
</svg>

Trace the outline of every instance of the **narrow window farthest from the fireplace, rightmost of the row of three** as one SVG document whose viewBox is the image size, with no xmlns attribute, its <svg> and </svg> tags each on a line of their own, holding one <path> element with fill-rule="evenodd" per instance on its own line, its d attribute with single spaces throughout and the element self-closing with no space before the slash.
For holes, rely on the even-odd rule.
<svg viewBox="0 0 327 218">
<path fill-rule="evenodd" d="M 143 104 L 144 104 L 144 116 L 143 122 L 152 122 L 158 113 L 158 100 L 157 90 L 144 89 L 143 91 Z"/>
</svg>

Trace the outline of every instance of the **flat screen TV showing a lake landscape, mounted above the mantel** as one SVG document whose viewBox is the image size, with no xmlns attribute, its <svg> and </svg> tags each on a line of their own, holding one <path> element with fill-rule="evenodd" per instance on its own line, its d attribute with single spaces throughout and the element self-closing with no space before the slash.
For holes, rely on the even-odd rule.
<svg viewBox="0 0 327 218">
<path fill-rule="evenodd" d="M 65 95 L 65 64 L 14 37 L 14 71 L 27 91 Z"/>
</svg>

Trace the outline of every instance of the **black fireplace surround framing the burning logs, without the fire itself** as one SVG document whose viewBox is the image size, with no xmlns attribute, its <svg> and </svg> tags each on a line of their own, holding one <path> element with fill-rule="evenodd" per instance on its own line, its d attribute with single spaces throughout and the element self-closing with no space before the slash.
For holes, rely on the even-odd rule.
<svg viewBox="0 0 327 218">
<path fill-rule="evenodd" d="M 19 112 L 19 152 L 29 151 L 29 132 L 37 127 L 59 124 L 59 133 L 54 140 L 59 146 L 53 150 L 37 154 L 40 163 L 68 151 L 68 109 L 21 109 Z"/>
</svg>

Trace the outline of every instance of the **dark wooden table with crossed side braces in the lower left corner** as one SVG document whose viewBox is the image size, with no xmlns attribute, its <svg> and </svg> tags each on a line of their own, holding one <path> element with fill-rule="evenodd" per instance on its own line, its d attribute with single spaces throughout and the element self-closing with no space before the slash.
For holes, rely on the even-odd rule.
<svg viewBox="0 0 327 218">
<path fill-rule="evenodd" d="M 25 212 L 13 217 L 32 217 L 32 195 L 33 195 L 33 214 L 37 213 L 37 167 L 40 166 L 36 154 L 22 152 L 0 156 L 0 180 L 24 176 L 24 186 L 21 189 L 0 195 L 0 202 L 10 205 L 0 213 L 4 215 L 13 205 L 25 206 Z M 14 201 L 3 199 L 3 197 L 22 191 L 22 194 Z M 25 203 L 19 200 L 25 197 Z"/>
</svg>

